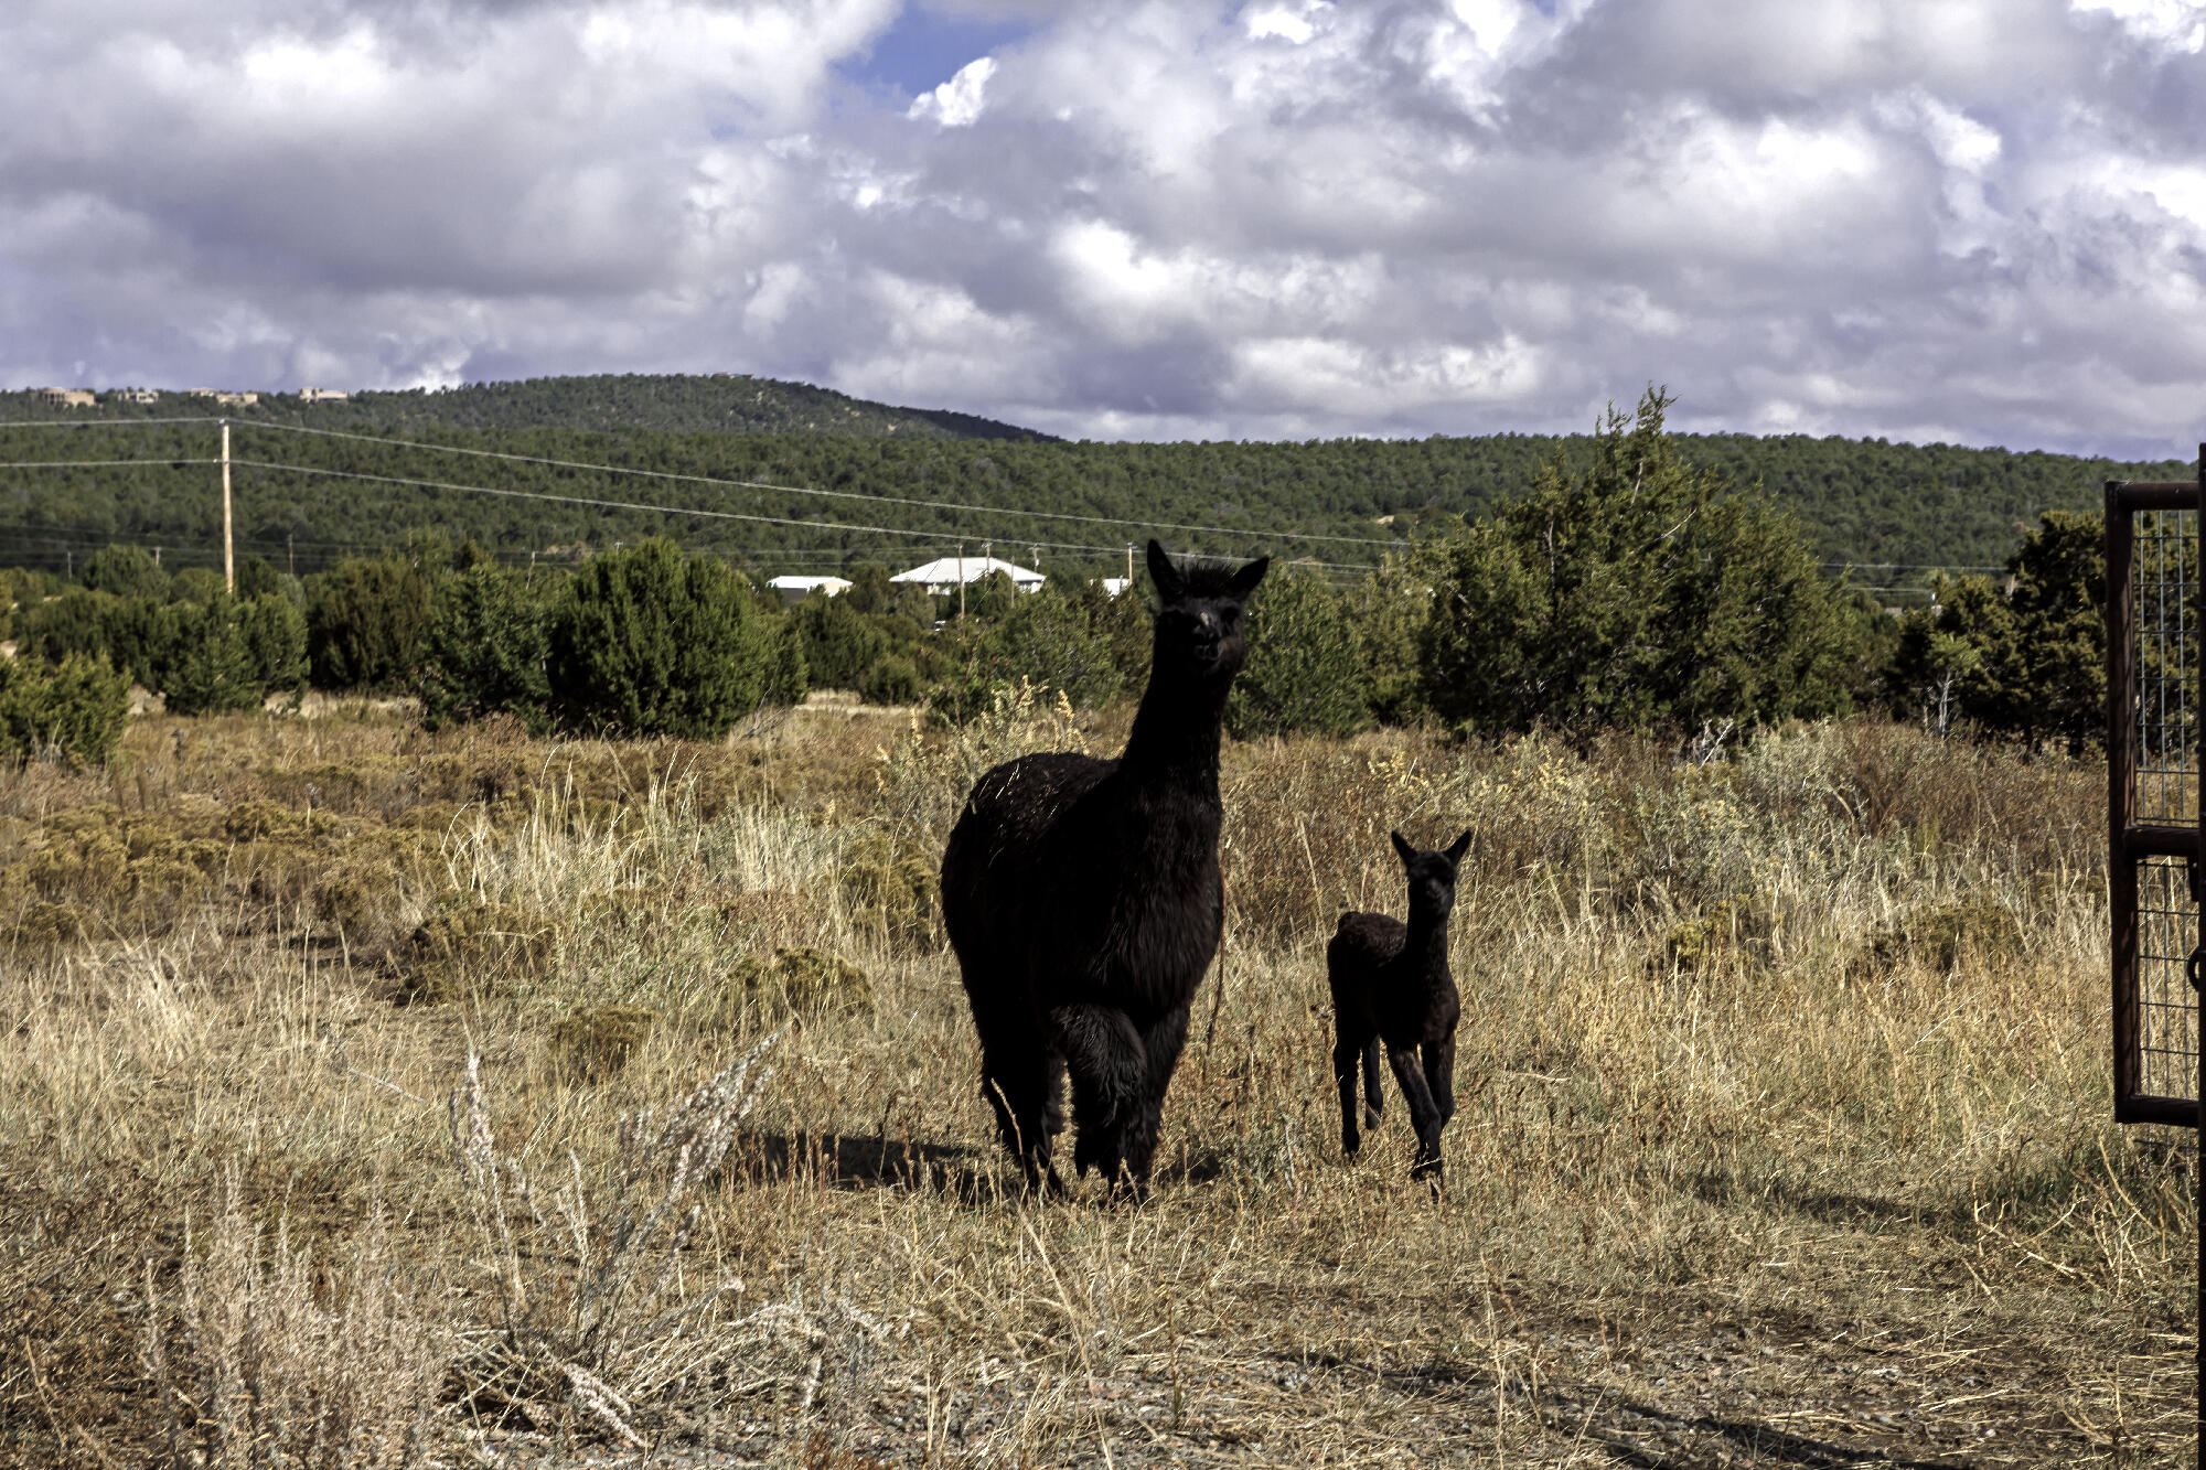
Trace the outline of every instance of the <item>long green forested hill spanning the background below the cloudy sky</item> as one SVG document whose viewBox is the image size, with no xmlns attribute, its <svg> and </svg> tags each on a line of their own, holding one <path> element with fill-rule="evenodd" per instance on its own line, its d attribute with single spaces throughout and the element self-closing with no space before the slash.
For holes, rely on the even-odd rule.
<svg viewBox="0 0 2206 1470">
<path fill-rule="evenodd" d="M 552 415 L 558 384 L 576 384 L 569 408 L 580 424 L 529 417 Z M 754 404 L 761 411 L 768 402 L 774 413 L 816 411 L 796 424 L 832 422 L 818 417 L 829 406 L 849 422 L 913 413 L 796 384 L 695 377 L 543 380 L 375 393 L 351 404 L 302 406 L 291 397 L 258 411 L 227 408 L 240 552 L 309 572 L 338 556 L 401 545 L 419 532 L 474 536 L 521 561 L 666 532 L 761 569 L 825 572 L 858 561 L 913 565 L 962 539 L 971 550 L 993 541 L 999 554 L 1019 561 L 1041 543 L 1046 567 L 1094 572 L 1123 565 L 1125 543 L 1158 534 L 1174 550 L 1275 552 L 1357 567 L 1405 547 L 1418 530 L 1520 494 L 1557 457 L 1582 464 L 1593 446 L 1584 435 L 1068 444 L 960 437 L 955 424 L 946 428 L 935 417 L 909 419 L 929 424 L 924 433 L 589 426 L 591 413 L 627 402 L 622 393 L 640 402 L 660 393 L 655 413 L 671 415 L 664 422 L 686 413 L 682 404 L 726 408 L 735 395 L 728 384 L 750 384 L 750 393 L 763 395 Z M 814 408 L 799 408 L 807 402 Z M 64 569 L 71 552 L 82 558 L 108 541 L 165 547 L 165 556 L 179 558 L 174 565 L 218 558 L 221 501 L 207 466 L 216 452 L 212 422 L 117 424 L 179 413 L 212 413 L 212 406 L 165 395 L 152 406 L 55 411 L 29 393 L 0 395 L 0 461 L 53 461 L 53 468 L 0 470 L 0 561 Z M 64 415 L 106 428 L 20 424 Z M 957 422 L 1015 433 L 982 419 Z M 1741 486 L 1765 486 L 1798 514 L 1833 567 L 1855 565 L 1853 580 L 1871 587 L 1921 580 L 1930 567 L 1996 565 L 2041 512 L 2098 508 L 2109 477 L 2195 472 L 2180 461 L 1805 435 L 1679 435 L 1677 444 L 1703 468 Z M 523 464 L 481 450 L 567 464 Z M 137 464 L 84 464 L 106 459 Z M 706 483 L 715 479 L 752 483 Z"/>
</svg>

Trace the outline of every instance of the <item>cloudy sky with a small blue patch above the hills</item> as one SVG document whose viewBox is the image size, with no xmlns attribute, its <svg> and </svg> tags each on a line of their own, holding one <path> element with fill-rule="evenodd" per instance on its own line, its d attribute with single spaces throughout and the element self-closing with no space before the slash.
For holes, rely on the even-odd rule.
<svg viewBox="0 0 2206 1470">
<path fill-rule="evenodd" d="M 9 0 L 0 386 L 2188 459 L 2186 0 Z"/>
</svg>

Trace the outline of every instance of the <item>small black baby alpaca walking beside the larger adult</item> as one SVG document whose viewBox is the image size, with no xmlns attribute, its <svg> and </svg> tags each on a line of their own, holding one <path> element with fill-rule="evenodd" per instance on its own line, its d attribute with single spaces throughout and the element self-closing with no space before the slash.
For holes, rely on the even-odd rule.
<svg viewBox="0 0 2206 1470">
<path fill-rule="evenodd" d="M 1441 1130 L 1456 1115 L 1456 978 L 1447 973 L 1447 914 L 1456 907 L 1456 863 L 1471 845 L 1465 832 L 1443 852 L 1421 852 L 1392 834 L 1410 874 L 1410 923 L 1385 914 L 1341 914 L 1326 945 L 1332 982 L 1332 1079 L 1341 1088 L 1341 1152 L 1363 1143 L 1357 1132 L 1357 1059 L 1363 1059 L 1363 1126 L 1385 1110 L 1379 1044 L 1416 1128 L 1416 1179 L 1441 1183 Z M 1423 1068 L 1418 1068 L 1423 1051 Z"/>
</svg>

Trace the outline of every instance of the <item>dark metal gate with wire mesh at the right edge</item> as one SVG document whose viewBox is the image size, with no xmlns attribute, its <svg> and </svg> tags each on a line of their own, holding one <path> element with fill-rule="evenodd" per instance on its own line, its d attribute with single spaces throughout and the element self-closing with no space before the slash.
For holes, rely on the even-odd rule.
<svg viewBox="0 0 2206 1470">
<path fill-rule="evenodd" d="M 2107 481 L 2113 1117 L 2199 1126 L 2199 479 Z"/>
</svg>

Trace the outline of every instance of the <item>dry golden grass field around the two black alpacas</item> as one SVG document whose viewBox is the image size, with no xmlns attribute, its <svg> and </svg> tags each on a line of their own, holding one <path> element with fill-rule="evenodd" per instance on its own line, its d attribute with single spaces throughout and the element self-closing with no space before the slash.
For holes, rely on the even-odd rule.
<svg viewBox="0 0 2206 1470">
<path fill-rule="evenodd" d="M 2193 1463 L 2098 770 L 1233 746 L 1158 1190 L 1035 1203 L 929 883 L 977 770 L 1118 720 L 148 717 L 0 775 L 0 1461 Z M 1478 832 L 1438 1201 L 1399 1097 L 1339 1157 L 1390 825 Z"/>
</svg>

